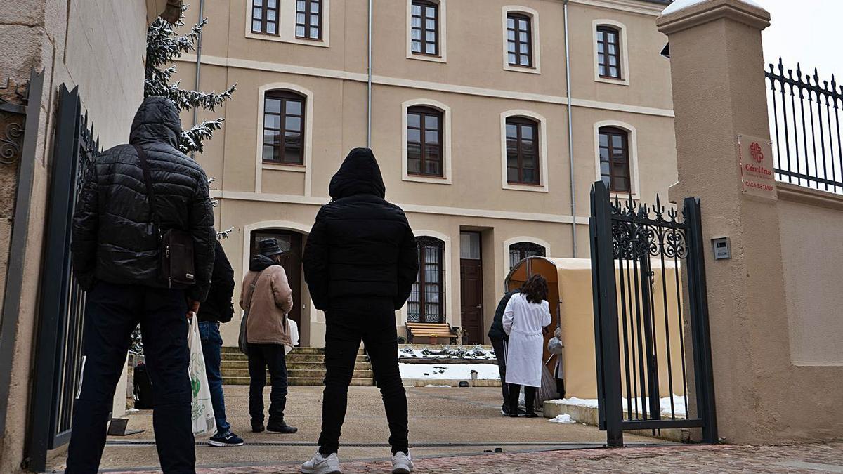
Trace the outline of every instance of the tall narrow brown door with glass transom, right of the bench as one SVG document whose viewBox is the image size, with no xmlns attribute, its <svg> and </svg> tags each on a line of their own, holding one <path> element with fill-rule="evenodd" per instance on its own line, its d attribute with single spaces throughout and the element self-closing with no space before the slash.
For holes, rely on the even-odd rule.
<svg viewBox="0 0 843 474">
<path fill-rule="evenodd" d="M 459 234 L 459 294 L 465 344 L 483 343 L 483 261 L 480 233 Z"/>
</svg>

